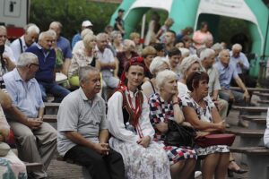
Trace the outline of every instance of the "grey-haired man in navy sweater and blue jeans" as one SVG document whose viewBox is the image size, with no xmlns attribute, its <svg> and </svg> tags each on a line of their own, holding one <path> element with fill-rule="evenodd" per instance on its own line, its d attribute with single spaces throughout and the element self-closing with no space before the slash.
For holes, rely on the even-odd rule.
<svg viewBox="0 0 269 179">
<path fill-rule="evenodd" d="M 56 53 L 52 48 L 54 43 L 55 32 L 48 30 L 41 32 L 39 42 L 29 47 L 26 52 L 31 52 L 39 58 L 39 69 L 36 74 L 36 79 L 39 81 L 39 86 L 42 92 L 43 101 L 48 101 L 47 92 L 55 97 L 55 102 L 61 102 L 67 94 L 70 93 L 64 87 L 58 85 L 55 81 L 55 64 Z"/>
</svg>

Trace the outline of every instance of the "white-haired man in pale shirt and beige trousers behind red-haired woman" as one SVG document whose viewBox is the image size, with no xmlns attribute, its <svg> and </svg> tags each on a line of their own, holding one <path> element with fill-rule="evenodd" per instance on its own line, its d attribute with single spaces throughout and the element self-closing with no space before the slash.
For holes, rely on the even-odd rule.
<svg viewBox="0 0 269 179">
<path fill-rule="evenodd" d="M 219 98 L 219 90 L 221 90 L 221 85 L 219 81 L 219 72 L 217 69 L 213 67 L 215 62 L 215 52 L 213 49 L 205 48 L 201 54 L 201 64 L 204 67 L 205 72 L 207 72 L 209 76 L 208 81 L 208 93 L 209 96 L 212 98 L 213 102 L 217 105 L 219 109 L 219 113 L 221 115 L 222 120 L 226 120 L 226 115 L 228 111 L 228 102 Z M 226 124 L 226 127 L 229 127 L 229 124 Z"/>
</svg>

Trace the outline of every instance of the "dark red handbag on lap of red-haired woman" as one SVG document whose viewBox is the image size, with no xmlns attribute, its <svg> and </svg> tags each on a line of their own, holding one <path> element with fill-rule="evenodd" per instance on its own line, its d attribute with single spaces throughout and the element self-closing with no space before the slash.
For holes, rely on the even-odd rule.
<svg viewBox="0 0 269 179">
<path fill-rule="evenodd" d="M 235 140 L 235 135 L 230 133 L 213 133 L 195 139 L 195 144 L 201 148 L 206 148 L 214 145 L 231 146 Z"/>
</svg>

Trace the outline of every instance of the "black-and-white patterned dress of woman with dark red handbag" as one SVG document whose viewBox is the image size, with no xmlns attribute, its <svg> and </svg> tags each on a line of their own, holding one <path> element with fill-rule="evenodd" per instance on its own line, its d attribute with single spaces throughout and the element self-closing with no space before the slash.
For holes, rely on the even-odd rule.
<svg viewBox="0 0 269 179">
<path fill-rule="evenodd" d="M 199 118 L 199 120 L 202 120 L 204 122 L 213 123 L 213 117 L 212 117 L 212 109 L 214 106 L 212 100 L 210 98 L 205 97 L 204 98 L 205 108 L 200 107 L 196 102 L 195 99 L 190 97 L 190 94 L 187 93 L 181 98 L 181 103 L 179 104 L 180 107 L 192 107 L 195 109 L 195 112 Z M 210 146 L 206 148 L 201 148 L 198 146 L 195 146 L 195 151 L 198 156 L 206 156 L 213 153 L 226 153 L 230 152 L 230 149 L 227 145 L 216 145 L 216 146 Z"/>
</svg>

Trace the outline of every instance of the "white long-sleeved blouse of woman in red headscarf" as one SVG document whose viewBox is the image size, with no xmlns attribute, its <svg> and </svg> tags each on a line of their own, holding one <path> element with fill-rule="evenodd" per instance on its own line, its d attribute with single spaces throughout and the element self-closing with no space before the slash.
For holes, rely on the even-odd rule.
<svg viewBox="0 0 269 179">
<path fill-rule="evenodd" d="M 135 106 L 135 96 L 137 93 L 126 90 L 126 95 L 130 93 L 133 106 Z M 139 140 L 139 135 L 126 130 L 123 117 L 123 96 L 120 92 L 115 92 L 108 100 L 108 130 L 117 139 L 126 142 L 136 142 Z M 154 129 L 150 122 L 150 107 L 147 98 L 143 95 L 142 114 L 139 118 L 139 124 L 143 136 L 150 136 L 153 139 Z"/>
</svg>

